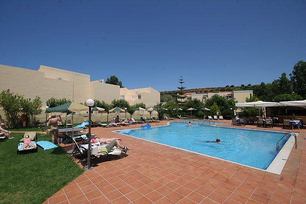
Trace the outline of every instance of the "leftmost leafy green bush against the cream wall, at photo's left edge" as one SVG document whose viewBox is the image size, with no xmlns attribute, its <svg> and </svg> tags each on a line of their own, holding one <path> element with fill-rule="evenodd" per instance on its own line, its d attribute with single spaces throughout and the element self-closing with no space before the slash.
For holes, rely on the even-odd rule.
<svg viewBox="0 0 306 204">
<path fill-rule="evenodd" d="M 0 106 L 3 108 L 8 119 L 7 126 L 17 127 L 19 124 L 20 99 L 23 96 L 4 90 L 0 94 Z"/>
</svg>

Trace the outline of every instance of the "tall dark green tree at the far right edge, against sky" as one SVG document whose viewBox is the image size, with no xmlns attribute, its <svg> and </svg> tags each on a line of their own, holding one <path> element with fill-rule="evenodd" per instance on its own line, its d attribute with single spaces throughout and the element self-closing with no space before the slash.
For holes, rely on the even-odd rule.
<svg viewBox="0 0 306 204">
<path fill-rule="evenodd" d="M 293 67 L 291 73 L 291 81 L 293 82 L 293 90 L 299 95 L 306 96 L 306 62 L 298 61 Z"/>
</svg>

